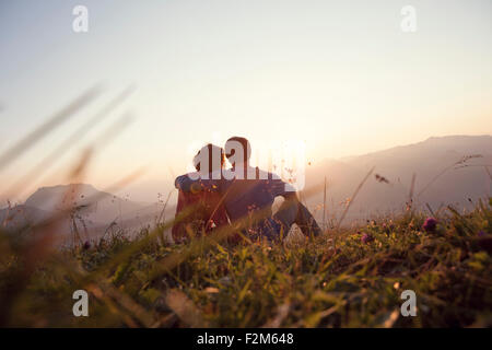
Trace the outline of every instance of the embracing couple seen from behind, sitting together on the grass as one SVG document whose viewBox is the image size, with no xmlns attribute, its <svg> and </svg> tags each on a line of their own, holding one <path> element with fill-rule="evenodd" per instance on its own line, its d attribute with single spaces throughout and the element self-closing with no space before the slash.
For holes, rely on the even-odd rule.
<svg viewBox="0 0 492 350">
<path fill-rule="evenodd" d="M 225 225 L 238 228 L 249 240 L 280 240 L 294 223 L 306 236 L 321 233 L 290 184 L 249 165 L 248 140 L 233 137 L 224 148 L 225 151 L 207 144 L 194 159 L 197 172 L 176 178 L 179 194 L 172 229 L 176 243 Z M 224 168 L 225 158 L 232 165 L 230 170 Z M 284 201 L 272 214 L 271 207 L 278 196 Z M 234 230 L 237 231 L 231 231 Z"/>
</svg>

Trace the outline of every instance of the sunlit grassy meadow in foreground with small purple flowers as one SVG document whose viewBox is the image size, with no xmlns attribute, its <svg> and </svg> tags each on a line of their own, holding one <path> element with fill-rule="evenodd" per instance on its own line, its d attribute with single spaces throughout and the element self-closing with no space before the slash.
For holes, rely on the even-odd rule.
<svg viewBox="0 0 492 350">
<path fill-rule="evenodd" d="M 26 254 L 1 234 L 2 326 L 26 327 L 491 327 L 492 199 L 448 207 L 434 231 L 411 210 L 324 236 L 180 245 L 118 232 L 90 247 Z M 169 264 L 172 261 L 173 264 Z M 74 317 L 84 289 L 89 317 Z M 403 290 L 418 315 L 400 315 Z"/>
</svg>

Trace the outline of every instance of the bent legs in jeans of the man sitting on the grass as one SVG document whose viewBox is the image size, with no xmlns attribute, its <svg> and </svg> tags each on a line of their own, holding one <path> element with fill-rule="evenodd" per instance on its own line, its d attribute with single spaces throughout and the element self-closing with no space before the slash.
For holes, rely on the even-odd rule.
<svg viewBox="0 0 492 350">
<path fill-rule="evenodd" d="M 321 233 L 321 229 L 316 223 L 309 210 L 298 201 L 295 196 L 292 196 L 283 201 L 279 211 L 273 215 L 273 219 L 280 222 L 286 235 L 292 224 L 297 224 L 304 235 L 317 236 Z"/>
</svg>

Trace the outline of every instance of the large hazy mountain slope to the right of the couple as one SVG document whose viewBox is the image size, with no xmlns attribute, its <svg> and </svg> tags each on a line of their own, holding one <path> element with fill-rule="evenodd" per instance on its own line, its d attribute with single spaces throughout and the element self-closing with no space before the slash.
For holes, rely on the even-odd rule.
<svg viewBox="0 0 492 350">
<path fill-rule="evenodd" d="M 464 162 L 459 163 L 460 161 Z M 444 205 L 470 207 L 492 191 L 491 177 L 483 165 L 489 165 L 492 172 L 491 136 L 433 137 L 423 142 L 379 152 L 326 160 L 306 171 L 306 188 L 321 188 L 307 203 L 317 206 L 317 219 L 320 220 L 323 210 L 319 209 L 326 176 L 327 218 L 340 217 L 343 203 L 374 166 L 374 173 L 353 201 L 347 221 L 367 219 L 378 213 L 401 212 L 409 200 L 413 174 L 414 206 L 426 208 L 429 203 L 433 210 Z M 376 174 L 388 183 L 378 182 Z"/>
</svg>

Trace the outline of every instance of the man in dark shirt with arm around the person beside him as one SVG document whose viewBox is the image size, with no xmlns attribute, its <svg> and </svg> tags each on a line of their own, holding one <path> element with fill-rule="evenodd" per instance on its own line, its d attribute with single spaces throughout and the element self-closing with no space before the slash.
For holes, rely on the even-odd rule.
<svg viewBox="0 0 492 350">
<path fill-rule="evenodd" d="M 185 175 L 176 179 L 176 186 L 185 192 L 192 187 L 220 192 L 231 222 L 248 217 L 255 218 L 255 213 L 260 214 L 260 220 L 253 220 L 255 224 L 248 228 L 251 235 L 277 240 L 282 231 L 286 235 L 294 223 L 307 236 L 318 235 L 321 232 L 291 185 L 274 174 L 249 165 L 251 148 L 248 140 L 239 137 L 229 139 L 225 143 L 225 154 L 232 168 L 222 171 L 221 178 L 215 176 L 215 178 L 192 179 Z M 285 200 L 273 215 L 271 206 L 278 196 L 282 196 Z"/>
</svg>

